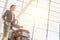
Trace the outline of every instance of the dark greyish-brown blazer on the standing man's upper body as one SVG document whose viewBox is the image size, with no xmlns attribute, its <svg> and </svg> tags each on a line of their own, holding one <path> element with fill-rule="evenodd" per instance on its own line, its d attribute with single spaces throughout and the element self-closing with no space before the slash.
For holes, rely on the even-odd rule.
<svg viewBox="0 0 60 40">
<path fill-rule="evenodd" d="M 6 12 L 3 14 L 2 18 L 5 22 L 14 22 L 15 23 L 15 15 L 13 15 L 10 10 L 6 10 Z M 13 19 L 13 21 L 12 21 Z"/>
</svg>

